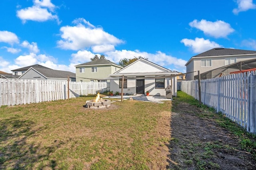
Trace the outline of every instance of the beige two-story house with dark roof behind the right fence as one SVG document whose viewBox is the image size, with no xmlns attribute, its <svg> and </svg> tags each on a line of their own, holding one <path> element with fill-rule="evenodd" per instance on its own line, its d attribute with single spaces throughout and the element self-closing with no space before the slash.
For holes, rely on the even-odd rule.
<svg viewBox="0 0 256 170">
<path fill-rule="evenodd" d="M 186 80 L 194 80 L 194 76 L 198 75 L 198 70 L 201 74 L 238 61 L 254 58 L 256 58 L 256 51 L 214 48 L 191 57 L 191 59 L 185 64 L 187 72 Z"/>
</svg>

